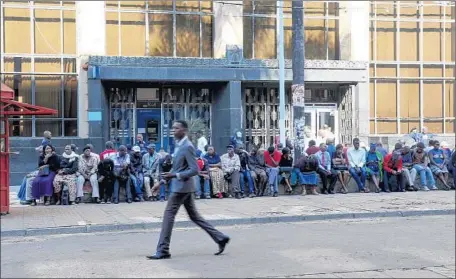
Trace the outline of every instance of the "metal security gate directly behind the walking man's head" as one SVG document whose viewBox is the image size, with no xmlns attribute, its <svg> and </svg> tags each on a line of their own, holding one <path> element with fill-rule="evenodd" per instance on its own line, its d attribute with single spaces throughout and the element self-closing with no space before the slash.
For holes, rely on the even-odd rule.
<svg viewBox="0 0 456 279">
<path fill-rule="evenodd" d="M 189 136 L 196 145 L 196 133 L 201 131 L 211 141 L 212 91 L 207 88 L 162 88 L 162 136 L 165 149 L 174 149 L 173 121 L 183 119 L 189 124 Z"/>
</svg>

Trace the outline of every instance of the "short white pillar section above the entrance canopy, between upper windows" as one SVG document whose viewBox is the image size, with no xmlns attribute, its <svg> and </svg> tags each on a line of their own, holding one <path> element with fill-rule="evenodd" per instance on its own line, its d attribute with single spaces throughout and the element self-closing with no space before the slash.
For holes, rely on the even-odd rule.
<svg viewBox="0 0 456 279">
<path fill-rule="evenodd" d="M 227 45 L 243 47 L 242 1 L 214 1 L 214 58 L 224 58 Z"/>
</svg>

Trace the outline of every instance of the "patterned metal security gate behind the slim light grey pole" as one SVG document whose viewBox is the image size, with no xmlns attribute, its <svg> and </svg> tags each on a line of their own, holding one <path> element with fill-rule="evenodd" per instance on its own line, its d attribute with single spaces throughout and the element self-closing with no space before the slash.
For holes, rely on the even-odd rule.
<svg viewBox="0 0 456 279">
<path fill-rule="evenodd" d="M 267 149 L 279 136 L 279 90 L 276 87 L 244 88 L 245 142 L 247 148 Z M 290 131 L 291 90 L 285 94 L 285 129 Z"/>
</svg>

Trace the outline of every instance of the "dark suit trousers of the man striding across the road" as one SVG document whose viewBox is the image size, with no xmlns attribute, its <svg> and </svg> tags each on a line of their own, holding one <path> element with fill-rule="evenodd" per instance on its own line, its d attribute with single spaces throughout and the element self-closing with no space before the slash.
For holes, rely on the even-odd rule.
<svg viewBox="0 0 456 279">
<path fill-rule="evenodd" d="M 181 205 L 184 205 L 190 220 L 205 230 L 216 243 L 219 243 L 226 238 L 223 233 L 216 230 L 198 213 L 195 207 L 193 193 L 171 193 L 168 198 L 168 204 L 166 205 L 165 213 L 163 216 L 160 240 L 158 241 L 157 245 L 158 253 L 169 253 L 169 245 L 171 243 L 171 233 L 173 232 L 174 219 L 176 218 L 176 214 L 179 211 Z"/>
</svg>

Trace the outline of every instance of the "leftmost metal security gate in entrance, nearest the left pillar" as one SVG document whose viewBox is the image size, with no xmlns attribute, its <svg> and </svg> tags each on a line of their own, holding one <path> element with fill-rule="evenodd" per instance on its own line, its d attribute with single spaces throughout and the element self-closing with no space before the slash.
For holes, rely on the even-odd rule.
<svg viewBox="0 0 456 279">
<path fill-rule="evenodd" d="M 135 141 L 135 88 L 110 88 L 109 96 L 109 134 L 117 146 L 133 144 Z"/>
</svg>

